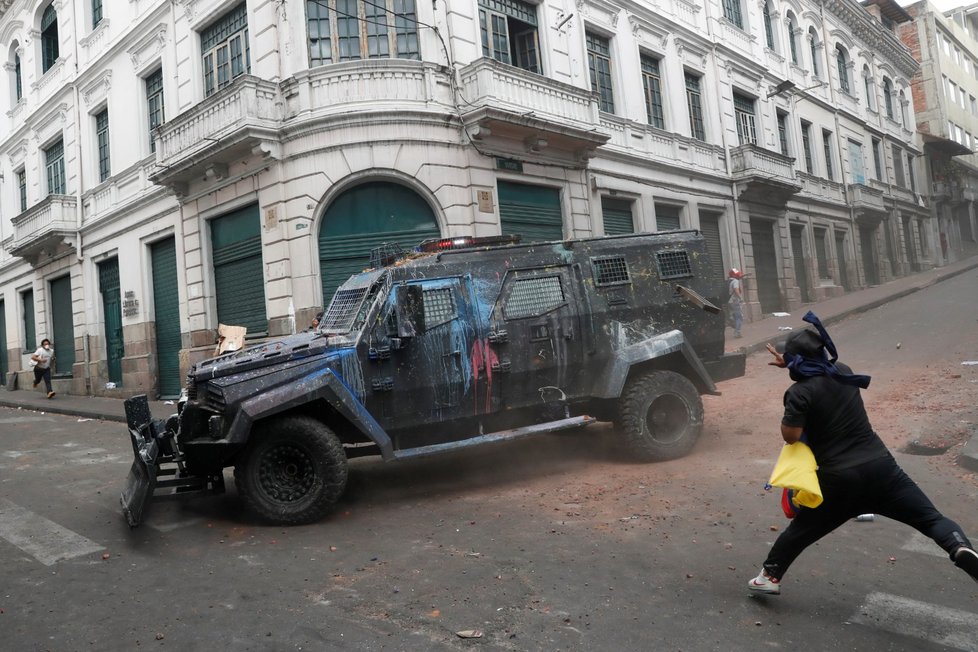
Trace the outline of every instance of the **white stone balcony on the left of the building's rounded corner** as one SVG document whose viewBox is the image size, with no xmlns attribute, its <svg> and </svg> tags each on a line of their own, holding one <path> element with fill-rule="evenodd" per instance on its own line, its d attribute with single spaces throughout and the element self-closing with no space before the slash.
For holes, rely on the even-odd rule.
<svg viewBox="0 0 978 652">
<path fill-rule="evenodd" d="M 237 144 L 250 129 L 275 129 L 280 120 L 278 85 L 251 75 L 162 125 L 156 136 L 156 162 L 179 167 L 205 150 Z"/>
</svg>

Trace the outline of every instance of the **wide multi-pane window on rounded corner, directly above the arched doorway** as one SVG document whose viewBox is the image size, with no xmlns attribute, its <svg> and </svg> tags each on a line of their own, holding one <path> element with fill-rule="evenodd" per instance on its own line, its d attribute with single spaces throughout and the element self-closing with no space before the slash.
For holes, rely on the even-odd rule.
<svg viewBox="0 0 978 652">
<path fill-rule="evenodd" d="M 307 0 L 309 64 L 420 59 L 415 0 Z"/>
</svg>

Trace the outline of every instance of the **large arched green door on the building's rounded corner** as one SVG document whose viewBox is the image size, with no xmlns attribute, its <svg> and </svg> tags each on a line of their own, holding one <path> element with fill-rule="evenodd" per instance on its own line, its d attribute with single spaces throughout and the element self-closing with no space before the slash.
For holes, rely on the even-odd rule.
<svg viewBox="0 0 978 652">
<path fill-rule="evenodd" d="M 441 236 L 428 203 L 406 186 L 371 181 L 340 194 L 326 209 L 319 229 L 319 273 L 323 302 L 370 263 L 370 250 L 396 243 L 405 251 Z"/>
</svg>

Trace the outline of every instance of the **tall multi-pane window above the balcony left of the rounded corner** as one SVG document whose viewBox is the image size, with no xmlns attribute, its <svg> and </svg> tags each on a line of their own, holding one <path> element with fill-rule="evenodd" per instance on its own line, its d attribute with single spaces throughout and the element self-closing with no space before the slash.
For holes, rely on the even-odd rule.
<svg viewBox="0 0 978 652">
<path fill-rule="evenodd" d="M 200 33 L 203 55 L 204 96 L 209 97 L 251 72 L 248 44 L 248 6 L 242 2 Z"/>
</svg>

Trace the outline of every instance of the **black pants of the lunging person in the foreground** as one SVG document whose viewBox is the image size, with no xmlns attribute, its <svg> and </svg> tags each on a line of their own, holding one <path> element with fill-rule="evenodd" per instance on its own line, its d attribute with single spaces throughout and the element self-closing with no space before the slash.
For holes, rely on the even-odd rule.
<svg viewBox="0 0 978 652">
<path fill-rule="evenodd" d="M 859 514 L 879 514 L 906 523 L 933 539 L 948 556 L 971 547 L 961 526 L 945 517 L 891 456 L 841 471 L 818 471 L 824 501 L 802 509 L 774 542 L 764 561 L 776 579 L 787 572 L 802 550 Z M 953 558 L 952 558 L 953 560 Z"/>
</svg>

